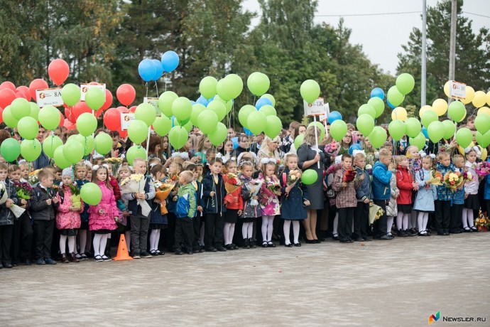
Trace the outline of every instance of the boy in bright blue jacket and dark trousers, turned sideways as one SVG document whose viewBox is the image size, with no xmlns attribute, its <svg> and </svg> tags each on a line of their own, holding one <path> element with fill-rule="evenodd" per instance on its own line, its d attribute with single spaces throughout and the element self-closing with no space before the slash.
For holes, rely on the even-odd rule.
<svg viewBox="0 0 490 327">
<path fill-rule="evenodd" d="M 376 161 L 373 167 L 373 199 L 374 204 L 379 205 L 383 209 L 383 215 L 374 221 L 373 235 L 379 240 L 393 240 L 393 236 L 386 232 L 386 203 L 391 197 L 391 170 L 393 156 L 387 149 L 379 151 L 379 161 Z"/>
</svg>

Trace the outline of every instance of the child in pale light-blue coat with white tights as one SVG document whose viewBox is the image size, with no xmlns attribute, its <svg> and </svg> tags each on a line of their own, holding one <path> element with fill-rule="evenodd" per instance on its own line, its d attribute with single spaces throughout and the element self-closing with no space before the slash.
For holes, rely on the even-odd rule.
<svg viewBox="0 0 490 327">
<path fill-rule="evenodd" d="M 430 236 L 427 231 L 427 222 L 429 213 L 434 212 L 434 201 L 437 198 L 437 189 L 434 184 L 430 183 L 430 168 L 432 167 L 432 158 L 424 156 L 422 159 L 422 169 L 415 173 L 415 183 L 418 183 L 417 197 L 413 210 L 418 211 L 418 235 Z"/>
</svg>

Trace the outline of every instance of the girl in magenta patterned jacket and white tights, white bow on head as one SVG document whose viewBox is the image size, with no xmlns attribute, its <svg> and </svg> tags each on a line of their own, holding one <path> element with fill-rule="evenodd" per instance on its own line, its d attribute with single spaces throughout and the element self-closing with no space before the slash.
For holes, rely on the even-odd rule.
<svg viewBox="0 0 490 327">
<path fill-rule="evenodd" d="M 258 180 L 261 186 L 262 208 L 262 247 L 276 247 L 272 242 L 274 216 L 281 214 L 278 195 L 281 194 L 281 184 L 276 177 L 276 160 L 262 159 L 262 172 Z"/>
</svg>

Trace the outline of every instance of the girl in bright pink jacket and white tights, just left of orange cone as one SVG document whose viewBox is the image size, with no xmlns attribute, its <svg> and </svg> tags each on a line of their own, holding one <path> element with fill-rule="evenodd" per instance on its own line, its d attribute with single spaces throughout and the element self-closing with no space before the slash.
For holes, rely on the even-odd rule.
<svg viewBox="0 0 490 327">
<path fill-rule="evenodd" d="M 111 230 L 117 228 L 118 220 L 114 192 L 109 184 L 109 169 L 107 166 L 93 167 L 92 183 L 96 183 L 102 191 L 102 200 L 98 205 L 89 206 L 89 230 L 94 231 L 94 260 L 111 261 L 104 254 L 107 237 Z"/>
</svg>

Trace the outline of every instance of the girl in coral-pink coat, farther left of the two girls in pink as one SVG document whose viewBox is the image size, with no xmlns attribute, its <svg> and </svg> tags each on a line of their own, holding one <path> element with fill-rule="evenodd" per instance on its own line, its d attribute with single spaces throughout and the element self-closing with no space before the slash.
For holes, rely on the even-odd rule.
<svg viewBox="0 0 490 327">
<path fill-rule="evenodd" d="M 80 200 L 80 206 L 72 205 L 72 189 L 77 186 L 73 185 L 72 168 L 65 168 L 61 173 L 60 188 L 56 198 L 60 205 L 56 214 L 56 228 L 60 230 L 60 253 L 61 262 L 80 262 L 75 255 L 75 242 L 77 229 L 80 228 L 80 211 L 82 210 L 83 201 Z M 68 238 L 68 255 L 66 254 L 66 240 Z"/>
</svg>

